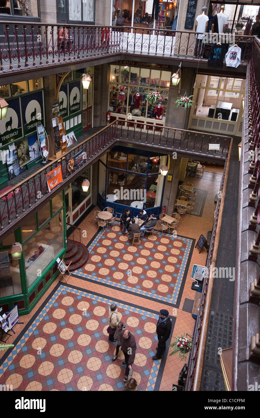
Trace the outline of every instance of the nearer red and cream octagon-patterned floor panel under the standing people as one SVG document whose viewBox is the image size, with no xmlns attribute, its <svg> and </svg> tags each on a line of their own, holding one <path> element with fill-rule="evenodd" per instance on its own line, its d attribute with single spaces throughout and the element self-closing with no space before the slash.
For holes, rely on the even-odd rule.
<svg viewBox="0 0 260 418">
<path fill-rule="evenodd" d="M 108 341 L 106 331 L 112 302 L 102 295 L 58 283 L 8 357 L 3 357 L 0 384 L 27 391 L 122 390 L 123 353 L 120 350 L 118 359 L 111 361 L 115 344 Z M 133 377 L 139 390 L 156 390 L 165 364 L 165 356 L 155 362 L 151 358 L 157 346 L 158 313 L 124 302 L 117 301 L 117 306 L 137 343 Z"/>
</svg>

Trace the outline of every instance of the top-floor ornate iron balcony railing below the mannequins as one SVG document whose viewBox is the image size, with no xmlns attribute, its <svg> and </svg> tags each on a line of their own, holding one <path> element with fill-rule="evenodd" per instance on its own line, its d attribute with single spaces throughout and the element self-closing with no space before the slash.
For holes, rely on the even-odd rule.
<svg viewBox="0 0 260 418">
<path fill-rule="evenodd" d="M 0 75 L 120 53 L 194 59 L 196 35 L 125 26 L 0 22 Z M 242 49 L 241 63 L 247 63 L 254 37 L 234 35 L 232 41 Z M 211 46 L 210 40 L 202 43 L 199 57 L 207 59 Z"/>
</svg>

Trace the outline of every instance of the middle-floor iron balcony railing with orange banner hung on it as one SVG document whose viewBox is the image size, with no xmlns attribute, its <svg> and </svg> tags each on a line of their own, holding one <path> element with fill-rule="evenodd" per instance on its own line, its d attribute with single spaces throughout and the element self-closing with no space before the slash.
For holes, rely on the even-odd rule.
<svg viewBox="0 0 260 418">
<path fill-rule="evenodd" d="M 126 124 L 127 126 L 123 127 Z M 63 181 L 74 180 L 78 170 L 91 165 L 99 153 L 111 148 L 115 143 L 126 145 L 136 144 L 142 147 L 157 150 L 159 153 L 172 154 L 174 151 L 185 156 L 208 158 L 215 161 L 225 161 L 228 155 L 231 138 L 221 135 L 212 135 L 190 130 L 181 130 L 170 127 L 152 127 L 148 123 L 140 122 L 112 122 L 96 134 L 87 138 L 79 145 L 64 153 L 61 157 L 43 166 L 34 174 L 18 183 L 0 195 L 0 240 L 1 234 L 28 214 L 35 205 L 54 196 L 63 185 L 58 185 L 54 191 L 48 192 L 46 174 L 61 165 Z M 220 144 L 219 151 L 209 150 L 209 143 Z M 83 164 L 72 172 L 67 170 L 67 164 L 79 151 L 85 152 Z"/>
</svg>

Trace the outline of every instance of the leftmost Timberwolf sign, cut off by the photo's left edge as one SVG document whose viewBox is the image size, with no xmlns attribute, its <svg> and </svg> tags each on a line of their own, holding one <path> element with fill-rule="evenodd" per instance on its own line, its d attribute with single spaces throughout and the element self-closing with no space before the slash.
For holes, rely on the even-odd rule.
<svg viewBox="0 0 260 418">
<path fill-rule="evenodd" d="M 21 111 L 20 111 L 20 99 L 7 100 L 9 107 L 6 113 L 6 117 L 0 120 L 0 143 L 2 145 L 21 138 L 23 136 Z"/>
</svg>

